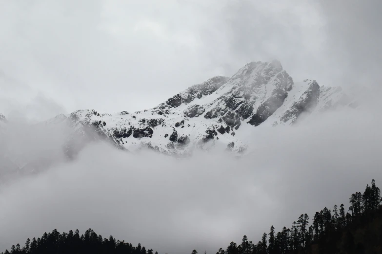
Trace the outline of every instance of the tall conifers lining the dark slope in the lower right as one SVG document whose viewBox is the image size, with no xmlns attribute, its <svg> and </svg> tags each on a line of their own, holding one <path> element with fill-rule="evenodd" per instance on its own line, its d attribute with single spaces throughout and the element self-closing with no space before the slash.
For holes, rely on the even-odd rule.
<svg viewBox="0 0 382 254">
<path fill-rule="evenodd" d="M 334 235 L 333 233 L 370 215 L 372 211 L 379 208 L 381 201 L 381 190 L 373 179 L 371 186 L 367 184 L 363 194 L 356 192 L 351 195 L 348 211 L 345 211 L 343 204 L 340 207 L 335 205 L 333 210 L 325 207 L 320 212 L 316 212 L 311 225 L 309 225 L 309 216 L 302 214 L 290 228 L 283 227 L 281 232 L 276 233 L 275 228 L 271 226 L 270 232 L 264 233 L 257 244 L 248 241 L 247 236 L 244 236 L 239 246 L 231 242 L 225 250 L 220 248 L 216 254 L 297 253 L 312 243 L 322 242 L 329 234 Z M 194 250 L 193 254 L 195 253 L 197 252 Z"/>
</svg>

